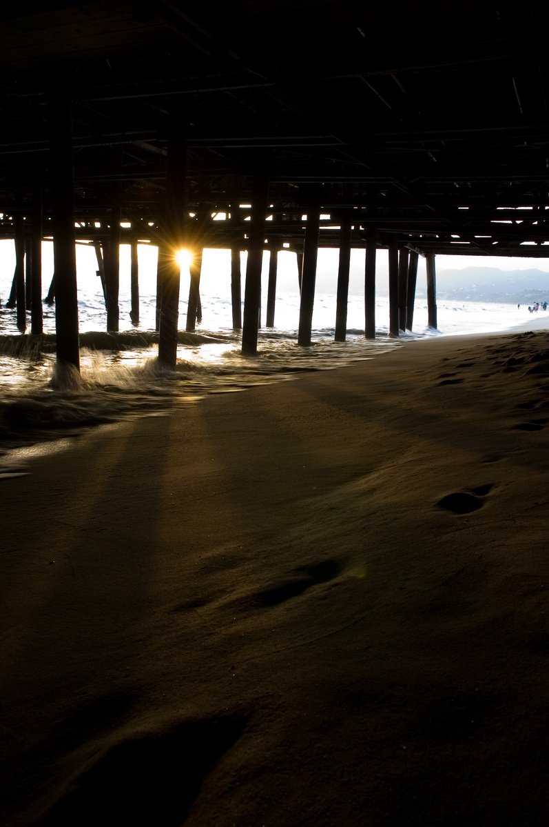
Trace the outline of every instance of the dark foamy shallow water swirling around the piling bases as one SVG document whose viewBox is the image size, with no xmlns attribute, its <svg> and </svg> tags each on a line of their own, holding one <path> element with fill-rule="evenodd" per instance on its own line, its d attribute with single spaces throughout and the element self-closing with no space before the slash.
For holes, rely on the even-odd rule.
<svg viewBox="0 0 549 827">
<path fill-rule="evenodd" d="M 258 355 L 244 357 L 232 331 L 180 332 L 176 368 L 166 370 L 159 365 L 155 332 L 83 333 L 79 374 L 56 363 L 52 334 L 0 337 L 0 456 L 97 425 L 163 414 L 208 394 L 332 370 L 399 346 L 388 337 L 366 342 L 363 332 L 344 343 L 333 336 L 333 330 L 316 332 L 313 345 L 302 348 L 291 332 L 261 333 Z"/>
</svg>

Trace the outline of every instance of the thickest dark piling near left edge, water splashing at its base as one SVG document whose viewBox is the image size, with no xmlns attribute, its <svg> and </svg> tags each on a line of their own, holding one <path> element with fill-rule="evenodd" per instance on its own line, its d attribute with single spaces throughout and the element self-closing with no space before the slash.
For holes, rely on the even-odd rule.
<svg viewBox="0 0 549 827">
<path fill-rule="evenodd" d="M 80 370 L 78 290 L 74 232 L 74 174 L 71 108 L 62 94 L 48 98 L 51 203 L 54 234 L 57 361 Z"/>
</svg>

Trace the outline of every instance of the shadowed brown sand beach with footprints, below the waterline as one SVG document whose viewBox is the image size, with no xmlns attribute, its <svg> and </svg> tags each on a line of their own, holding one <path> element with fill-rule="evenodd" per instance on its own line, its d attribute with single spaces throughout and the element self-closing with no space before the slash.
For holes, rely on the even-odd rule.
<svg viewBox="0 0 549 827">
<path fill-rule="evenodd" d="M 2 827 L 549 823 L 549 333 L 2 480 Z"/>
</svg>

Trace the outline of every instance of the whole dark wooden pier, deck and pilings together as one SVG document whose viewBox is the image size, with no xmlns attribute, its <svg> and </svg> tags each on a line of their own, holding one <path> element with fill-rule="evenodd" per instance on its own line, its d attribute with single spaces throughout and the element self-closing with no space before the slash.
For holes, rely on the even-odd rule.
<svg viewBox="0 0 549 827">
<path fill-rule="evenodd" d="M 58 359 L 78 369 L 74 245 L 97 251 L 106 326 L 119 327 L 119 251 L 159 246 L 159 361 L 176 358 L 179 267 L 232 251 L 233 324 L 257 351 L 263 251 L 274 324 L 277 251 L 296 254 L 298 342 L 309 347 L 319 248 L 340 251 L 335 338 L 346 336 L 350 251 L 366 250 L 364 332 L 375 337 L 376 251 L 389 256 L 390 335 L 410 330 L 418 257 L 437 326 L 435 256 L 546 257 L 549 12 L 446 4 L 27 2 L 0 27 L 0 237 L 8 304 L 42 329 L 40 241 L 53 238 Z M 532 13 L 533 13 L 532 12 Z M 426 42 L 426 31 L 441 33 Z M 219 220 L 223 216 L 224 220 Z M 248 252 L 245 274 L 239 251 Z M 241 313 L 242 276 L 244 313 Z"/>
</svg>

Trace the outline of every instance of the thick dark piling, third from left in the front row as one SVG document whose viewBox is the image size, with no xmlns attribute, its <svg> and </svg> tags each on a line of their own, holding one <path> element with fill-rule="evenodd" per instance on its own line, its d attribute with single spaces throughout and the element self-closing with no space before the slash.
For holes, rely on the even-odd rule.
<svg viewBox="0 0 549 827">
<path fill-rule="evenodd" d="M 265 240 L 265 208 L 268 182 L 262 177 L 253 183 L 252 216 L 248 231 L 248 261 L 244 288 L 243 356 L 258 352 L 259 309 L 261 305 L 261 270 Z"/>
</svg>

